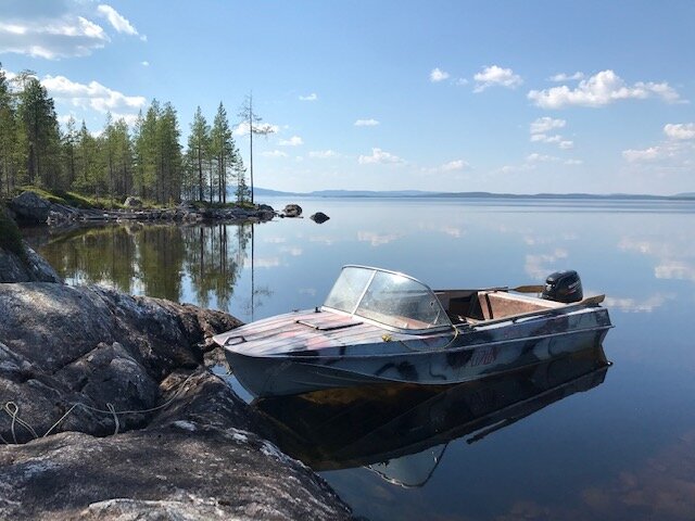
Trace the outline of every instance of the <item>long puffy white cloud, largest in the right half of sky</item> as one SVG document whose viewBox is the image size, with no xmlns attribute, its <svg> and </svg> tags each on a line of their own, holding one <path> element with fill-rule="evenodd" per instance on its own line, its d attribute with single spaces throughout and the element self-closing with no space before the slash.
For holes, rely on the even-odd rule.
<svg viewBox="0 0 695 521">
<path fill-rule="evenodd" d="M 564 85 L 546 90 L 531 90 L 528 93 L 528 98 L 543 109 L 563 109 L 571 105 L 604 106 L 619 100 L 643 100 L 652 97 L 669 103 L 680 100 L 678 92 L 667 82 L 637 81 L 629 86 L 610 69 L 583 79 L 576 89 Z"/>
</svg>

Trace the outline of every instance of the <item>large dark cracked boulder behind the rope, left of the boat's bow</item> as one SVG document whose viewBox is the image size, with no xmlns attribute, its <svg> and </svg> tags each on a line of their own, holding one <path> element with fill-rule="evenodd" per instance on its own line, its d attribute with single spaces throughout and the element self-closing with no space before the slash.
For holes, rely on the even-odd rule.
<svg viewBox="0 0 695 521">
<path fill-rule="evenodd" d="M 42 282 L 0 284 L 0 395 L 16 403 L 37 433 L 85 404 L 56 430 L 97 435 L 113 432 L 115 421 L 92 408 L 154 407 L 167 374 L 201 366 L 205 338 L 240 323 L 195 306 Z M 121 428 L 141 427 L 151 416 L 125 418 Z M 7 415 L 0 435 L 34 437 Z"/>
</svg>

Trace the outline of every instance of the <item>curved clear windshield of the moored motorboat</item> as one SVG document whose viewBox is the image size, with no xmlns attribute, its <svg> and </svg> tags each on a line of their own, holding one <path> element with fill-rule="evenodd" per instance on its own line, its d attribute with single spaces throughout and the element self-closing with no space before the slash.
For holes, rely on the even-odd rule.
<svg viewBox="0 0 695 521">
<path fill-rule="evenodd" d="M 324 306 L 397 329 L 451 326 L 442 304 L 427 285 L 376 268 L 345 266 Z"/>
</svg>

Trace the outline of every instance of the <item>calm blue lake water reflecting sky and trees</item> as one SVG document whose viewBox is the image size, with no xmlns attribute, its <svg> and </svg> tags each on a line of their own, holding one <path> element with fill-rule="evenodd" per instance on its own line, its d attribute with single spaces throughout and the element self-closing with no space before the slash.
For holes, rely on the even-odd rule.
<svg viewBox="0 0 695 521">
<path fill-rule="evenodd" d="M 330 220 L 26 231 L 71 283 L 244 321 L 320 305 L 345 264 L 433 289 L 538 284 L 576 269 L 584 294 L 607 295 L 610 367 L 594 346 L 441 393 L 269 404 L 294 429 L 281 448 L 370 520 L 695 519 L 695 202 L 264 202 Z"/>
</svg>

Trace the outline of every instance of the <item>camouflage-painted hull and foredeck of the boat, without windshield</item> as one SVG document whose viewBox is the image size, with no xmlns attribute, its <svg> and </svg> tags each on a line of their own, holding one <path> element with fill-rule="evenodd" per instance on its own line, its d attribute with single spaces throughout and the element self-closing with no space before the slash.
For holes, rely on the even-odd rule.
<svg viewBox="0 0 695 521">
<path fill-rule="evenodd" d="M 603 341 L 598 306 L 405 333 L 331 310 L 296 312 L 215 336 L 241 384 L 281 396 L 371 383 L 460 383 L 532 366 Z"/>
</svg>

